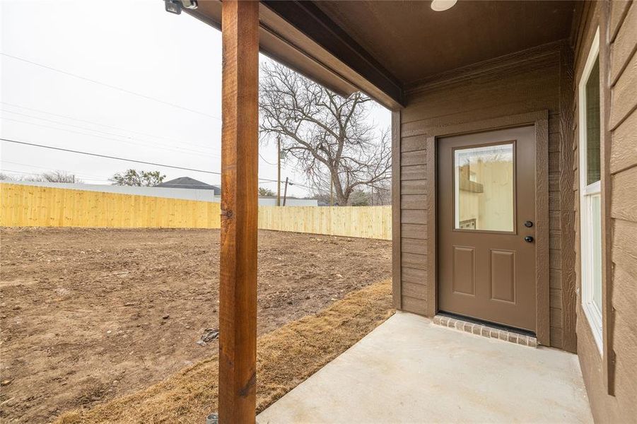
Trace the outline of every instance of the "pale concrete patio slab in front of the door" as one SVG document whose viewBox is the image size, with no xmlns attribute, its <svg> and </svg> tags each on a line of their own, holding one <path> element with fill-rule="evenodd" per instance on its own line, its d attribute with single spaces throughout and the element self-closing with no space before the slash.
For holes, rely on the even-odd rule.
<svg viewBox="0 0 637 424">
<path fill-rule="evenodd" d="M 398 312 L 257 422 L 592 423 L 592 416 L 576 355 Z"/>
</svg>

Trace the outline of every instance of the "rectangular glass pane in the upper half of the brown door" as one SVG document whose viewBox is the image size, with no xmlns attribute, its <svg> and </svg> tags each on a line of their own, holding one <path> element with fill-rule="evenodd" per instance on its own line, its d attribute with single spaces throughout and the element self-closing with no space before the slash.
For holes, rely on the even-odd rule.
<svg viewBox="0 0 637 424">
<path fill-rule="evenodd" d="M 513 143 L 454 151 L 455 228 L 513 231 Z"/>
</svg>

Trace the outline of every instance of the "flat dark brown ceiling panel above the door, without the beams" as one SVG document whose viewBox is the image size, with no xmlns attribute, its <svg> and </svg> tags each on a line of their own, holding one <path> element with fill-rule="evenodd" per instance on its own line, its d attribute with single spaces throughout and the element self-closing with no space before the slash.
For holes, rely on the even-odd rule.
<svg viewBox="0 0 637 424">
<path fill-rule="evenodd" d="M 403 86 L 568 37 L 573 1 L 315 1 Z"/>
</svg>

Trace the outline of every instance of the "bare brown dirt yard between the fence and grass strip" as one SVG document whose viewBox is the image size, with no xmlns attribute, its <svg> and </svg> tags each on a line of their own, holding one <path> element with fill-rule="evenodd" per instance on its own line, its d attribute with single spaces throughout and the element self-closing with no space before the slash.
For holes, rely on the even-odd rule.
<svg viewBox="0 0 637 424">
<path fill-rule="evenodd" d="M 47 422 L 214 354 L 218 230 L 1 229 L 0 418 Z M 259 334 L 391 274 L 388 241 L 259 232 Z"/>
</svg>

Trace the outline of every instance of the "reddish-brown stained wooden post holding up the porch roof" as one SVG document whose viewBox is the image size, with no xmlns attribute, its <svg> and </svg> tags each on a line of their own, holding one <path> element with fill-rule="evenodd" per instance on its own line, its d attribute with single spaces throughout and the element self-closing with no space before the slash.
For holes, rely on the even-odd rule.
<svg viewBox="0 0 637 424">
<path fill-rule="evenodd" d="M 255 423 L 259 2 L 222 4 L 219 423 Z"/>
</svg>

